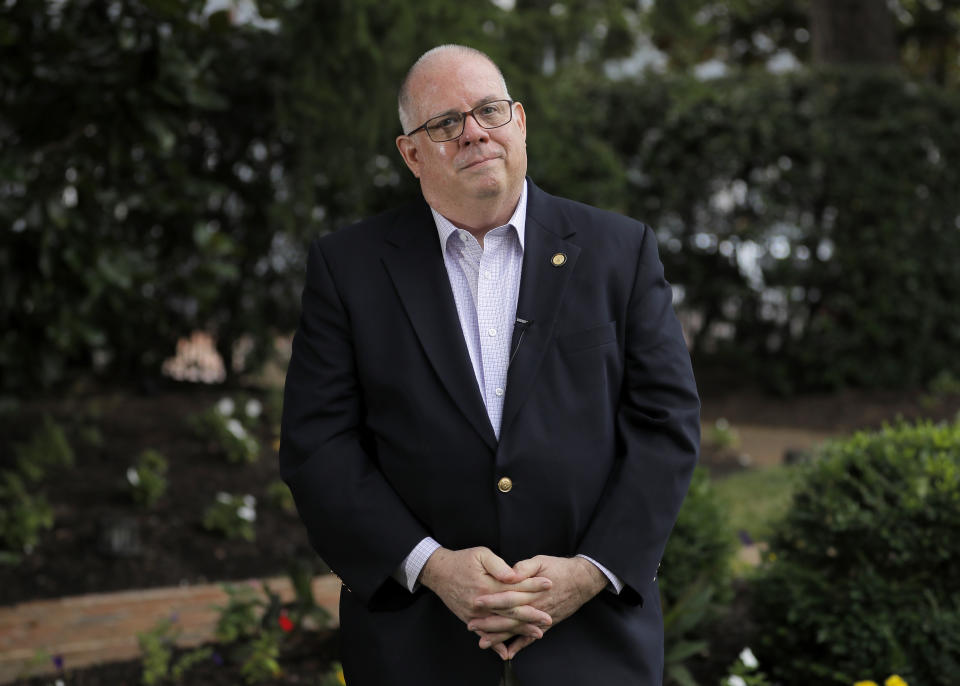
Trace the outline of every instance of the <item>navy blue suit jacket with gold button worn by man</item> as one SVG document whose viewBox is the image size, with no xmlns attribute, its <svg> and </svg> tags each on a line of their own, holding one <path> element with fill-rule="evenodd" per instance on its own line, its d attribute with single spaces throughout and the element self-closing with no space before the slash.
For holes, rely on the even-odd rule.
<svg viewBox="0 0 960 686">
<path fill-rule="evenodd" d="M 499 683 L 500 659 L 439 598 L 392 578 L 428 535 L 509 564 L 583 553 L 626 584 L 521 651 L 523 686 L 661 681 L 656 574 L 699 445 L 690 358 L 653 231 L 528 183 L 517 316 L 531 323 L 499 441 L 428 206 L 311 246 L 280 466 L 345 584 L 350 686 Z"/>
</svg>

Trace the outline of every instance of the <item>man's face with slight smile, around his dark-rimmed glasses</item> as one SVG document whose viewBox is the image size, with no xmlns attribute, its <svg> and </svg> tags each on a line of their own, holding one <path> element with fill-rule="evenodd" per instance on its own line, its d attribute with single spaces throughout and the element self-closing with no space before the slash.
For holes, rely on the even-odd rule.
<svg viewBox="0 0 960 686">
<path fill-rule="evenodd" d="M 507 94 L 497 70 L 473 55 L 439 55 L 423 65 L 409 85 L 415 124 L 450 112 L 466 112 Z M 527 173 L 526 118 L 513 105 L 513 119 L 495 129 L 482 128 L 472 116 L 463 135 L 445 143 L 430 140 L 426 131 L 400 136 L 397 147 L 420 179 L 427 202 L 455 212 L 477 200 L 519 197 Z"/>
</svg>

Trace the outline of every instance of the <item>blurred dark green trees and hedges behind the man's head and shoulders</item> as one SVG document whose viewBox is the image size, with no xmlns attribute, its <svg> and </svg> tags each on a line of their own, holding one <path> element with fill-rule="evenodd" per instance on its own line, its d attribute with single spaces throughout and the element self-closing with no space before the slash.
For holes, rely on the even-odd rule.
<svg viewBox="0 0 960 686">
<path fill-rule="evenodd" d="M 417 192 L 396 87 L 442 42 L 539 185 L 656 228 L 699 368 L 960 377 L 957 0 L 4 0 L 0 390 L 264 359 L 309 239 Z"/>
</svg>

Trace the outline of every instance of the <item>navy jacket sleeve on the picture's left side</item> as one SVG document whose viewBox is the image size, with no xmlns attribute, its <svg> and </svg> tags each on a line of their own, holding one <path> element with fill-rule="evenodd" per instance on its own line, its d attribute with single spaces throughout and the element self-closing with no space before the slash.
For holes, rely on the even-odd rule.
<svg viewBox="0 0 960 686">
<path fill-rule="evenodd" d="M 280 473 L 313 548 L 364 604 L 376 605 L 400 590 L 393 573 L 429 533 L 378 467 L 350 313 L 322 248 L 315 241 L 307 262 L 284 388 Z"/>
</svg>

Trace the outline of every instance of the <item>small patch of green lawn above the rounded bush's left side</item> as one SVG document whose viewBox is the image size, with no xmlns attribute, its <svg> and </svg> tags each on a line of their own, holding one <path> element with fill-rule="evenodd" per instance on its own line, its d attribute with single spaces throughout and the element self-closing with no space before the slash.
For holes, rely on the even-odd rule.
<svg viewBox="0 0 960 686">
<path fill-rule="evenodd" d="M 766 540 L 772 523 L 790 507 L 797 472 L 793 466 L 774 465 L 715 479 L 713 489 L 733 530 L 747 532 L 754 541 Z"/>
</svg>

